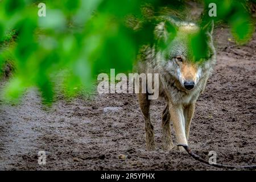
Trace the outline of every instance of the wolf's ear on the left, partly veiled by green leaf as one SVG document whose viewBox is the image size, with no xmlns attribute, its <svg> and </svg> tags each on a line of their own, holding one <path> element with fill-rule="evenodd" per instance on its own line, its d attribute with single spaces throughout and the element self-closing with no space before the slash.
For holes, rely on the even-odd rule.
<svg viewBox="0 0 256 182">
<path fill-rule="evenodd" d="M 174 23 L 166 20 L 156 25 L 154 30 L 154 36 L 156 40 L 167 42 L 171 36 L 176 34 L 176 26 Z"/>
</svg>

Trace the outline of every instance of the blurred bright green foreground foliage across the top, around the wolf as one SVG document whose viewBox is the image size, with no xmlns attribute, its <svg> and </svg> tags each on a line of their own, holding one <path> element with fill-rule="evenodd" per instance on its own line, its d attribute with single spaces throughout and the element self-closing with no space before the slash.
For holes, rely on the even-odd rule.
<svg viewBox="0 0 256 182">
<path fill-rule="evenodd" d="M 15 66 L 14 75 L 2 88 L 5 100 L 19 98 L 26 88 L 38 86 L 44 102 L 51 103 L 56 85 L 69 97 L 90 90 L 97 73 L 110 68 L 116 73 L 130 72 L 139 47 L 154 43 L 154 16 L 185 12 L 182 0 L 56 0 L 43 1 L 46 17 L 39 17 L 40 2 L 0 1 L 0 43 L 18 36 L 9 47 L 0 49 L 0 67 L 6 60 Z M 217 18 L 203 16 L 202 26 L 210 19 L 224 19 L 238 41 L 250 38 L 253 26 L 250 14 L 241 8 L 242 1 L 204 2 L 205 10 L 209 2 L 215 2 L 218 12 Z M 196 51 L 204 51 L 201 48 Z"/>
</svg>

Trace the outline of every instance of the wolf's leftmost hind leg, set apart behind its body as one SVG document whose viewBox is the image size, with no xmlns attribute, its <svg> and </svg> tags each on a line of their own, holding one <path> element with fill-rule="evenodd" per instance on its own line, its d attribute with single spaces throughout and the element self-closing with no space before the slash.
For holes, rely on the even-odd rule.
<svg viewBox="0 0 256 182">
<path fill-rule="evenodd" d="M 150 100 L 147 98 L 146 93 L 138 94 L 139 107 L 141 107 L 142 113 L 145 119 L 146 130 L 146 148 L 147 150 L 155 150 L 155 134 L 154 126 L 150 122 Z"/>
</svg>

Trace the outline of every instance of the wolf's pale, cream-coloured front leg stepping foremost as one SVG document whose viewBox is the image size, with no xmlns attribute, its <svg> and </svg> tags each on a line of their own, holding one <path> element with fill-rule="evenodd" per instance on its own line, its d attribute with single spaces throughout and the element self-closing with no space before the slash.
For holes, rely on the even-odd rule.
<svg viewBox="0 0 256 182">
<path fill-rule="evenodd" d="M 169 103 L 171 121 L 174 123 L 174 130 L 178 144 L 188 144 L 185 135 L 185 118 L 183 115 L 183 107 L 181 105 L 172 105 Z M 184 151 L 183 147 L 179 147 L 180 151 Z"/>
</svg>

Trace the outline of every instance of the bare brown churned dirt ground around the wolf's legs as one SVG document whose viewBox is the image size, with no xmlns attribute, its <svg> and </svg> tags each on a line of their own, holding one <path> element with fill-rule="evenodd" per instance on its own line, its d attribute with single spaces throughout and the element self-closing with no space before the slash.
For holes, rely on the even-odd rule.
<svg viewBox="0 0 256 182">
<path fill-rule="evenodd" d="M 209 151 L 216 151 L 217 163 L 255 164 L 256 33 L 239 46 L 227 28 L 217 27 L 214 39 L 217 65 L 197 101 L 189 144 L 205 159 Z M 71 102 L 60 97 L 52 109 L 44 109 L 33 89 L 19 105 L 0 101 L 0 169 L 218 169 L 188 154 L 162 150 L 165 104 L 163 100 L 152 104 L 157 150 L 148 152 L 135 94 L 104 94 Z M 174 131 L 172 135 L 175 141 Z M 39 151 L 46 151 L 46 165 L 38 164 Z"/>
</svg>

